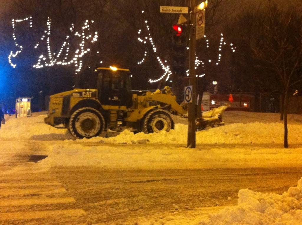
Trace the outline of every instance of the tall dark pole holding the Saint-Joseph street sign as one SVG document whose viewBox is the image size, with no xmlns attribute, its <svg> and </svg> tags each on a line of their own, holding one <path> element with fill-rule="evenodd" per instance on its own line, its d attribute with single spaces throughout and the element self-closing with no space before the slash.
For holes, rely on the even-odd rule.
<svg viewBox="0 0 302 225">
<path fill-rule="evenodd" d="M 196 76 L 195 76 L 195 49 L 196 49 L 196 16 L 194 7 L 196 1 L 191 0 L 191 13 L 190 13 L 190 48 L 189 48 L 189 82 L 193 85 L 192 103 L 188 104 L 188 144 L 187 147 L 196 147 L 196 128 L 195 128 L 195 115 L 196 115 Z"/>
</svg>

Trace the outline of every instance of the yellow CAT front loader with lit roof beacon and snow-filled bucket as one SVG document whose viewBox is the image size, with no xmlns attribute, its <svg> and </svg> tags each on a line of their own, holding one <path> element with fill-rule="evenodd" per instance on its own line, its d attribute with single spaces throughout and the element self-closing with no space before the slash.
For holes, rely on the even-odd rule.
<svg viewBox="0 0 302 225">
<path fill-rule="evenodd" d="M 169 86 L 155 92 L 133 94 L 128 69 L 98 68 L 96 87 L 74 89 L 50 96 L 45 123 L 65 127 L 76 138 L 92 138 L 105 131 L 168 132 L 174 129 L 172 114 L 185 116 Z M 221 106 L 197 119 L 197 128 L 222 125 Z"/>
</svg>

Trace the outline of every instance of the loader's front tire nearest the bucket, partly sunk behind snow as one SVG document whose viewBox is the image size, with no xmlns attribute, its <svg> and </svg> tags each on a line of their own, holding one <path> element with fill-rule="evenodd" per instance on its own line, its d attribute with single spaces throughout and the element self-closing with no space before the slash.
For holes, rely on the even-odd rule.
<svg viewBox="0 0 302 225">
<path fill-rule="evenodd" d="M 162 109 L 149 112 L 142 121 L 142 131 L 145 134 L 170 131 L 173 128 L 173 120 L 169 113 Z"/>
</svg>

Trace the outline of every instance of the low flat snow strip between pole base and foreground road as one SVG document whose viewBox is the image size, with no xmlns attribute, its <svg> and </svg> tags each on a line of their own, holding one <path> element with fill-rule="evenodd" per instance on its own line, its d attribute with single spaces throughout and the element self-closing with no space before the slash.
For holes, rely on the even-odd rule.
<svg viewBox="0 0 302 225">
<path fill-rule="evenodd" d="M 50 167 L 98 166 L 144 170 L 302 167 L 301 145 L 288 149 L 284 149 L 282 144 L 201 144 L 195 149 L 185 146 L 66 140 L 48 144 L 48 157 L 41 163 Z"/>
</svg>

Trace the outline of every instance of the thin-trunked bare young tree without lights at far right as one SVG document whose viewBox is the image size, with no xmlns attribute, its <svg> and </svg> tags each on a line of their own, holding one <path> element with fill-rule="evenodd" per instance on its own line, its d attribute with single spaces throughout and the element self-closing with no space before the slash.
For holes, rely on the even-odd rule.
<svg viewBox="0 0 302 225">
<path fill-rule="evenodd" d="M 283 12 L 276 5 L 259 10 L 257 17 L 254 27 L 257 42 L 252 45 L 252 52 L 259 66 L 271 70 L 281 84 L 284 147 L 288 148 L 288 99 L 291 88 L 302 81 L 302 19 L 294 9 Z"/>
</svg>

